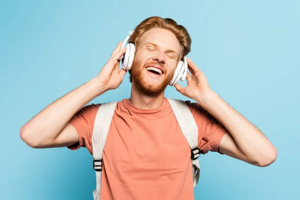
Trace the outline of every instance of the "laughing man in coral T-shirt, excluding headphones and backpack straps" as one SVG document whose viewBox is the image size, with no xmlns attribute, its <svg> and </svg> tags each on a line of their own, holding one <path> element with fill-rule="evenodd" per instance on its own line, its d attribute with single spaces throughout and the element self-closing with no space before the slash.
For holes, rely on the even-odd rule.
<svg viewBox="0 0 300 200">
<path fill-rule="evenodd" d="M 131 95 L 117 103 L 109 127 L 100 199 L 193 199 L 190 148 L 164 97 L 177 63 L 190 51 L 189 34 L 172 19 L 149 17 L 134 29 L 129 42 L 136 48 L 129 71 Z M 121 45 L 98 75 L 24 124 L 21 139 L 34 148 L 83 146 L 92 154 L 91 134 L 100 104 L 84 105 L 122 82 L 126 71 L 119 70 L 119 58 L 126 48 Z M 174 86 L 196 101 L 186 104 L 197 123 L 201 153 L 218 151 L 257 166 L 271 164 L 276 148 L 211 90 L 190 58 L 187 63 L 187 86 Z"/>
</svg>

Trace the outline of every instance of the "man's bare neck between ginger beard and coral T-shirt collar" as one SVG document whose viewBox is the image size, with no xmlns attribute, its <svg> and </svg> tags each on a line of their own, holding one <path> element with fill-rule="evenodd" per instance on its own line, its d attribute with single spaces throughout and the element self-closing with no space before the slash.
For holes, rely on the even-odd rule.
<svg viewBox="0 0 300 200">
<path fill-rule="evenodd" d="M 164 91 L 151 95 L 145 92 L 142 92 L 137 88 L 135 84 L 132 83 L 131 87 L 131 95 L 129 98 L 129 102 L 139 109 L 154 109 L 162 105 L 164 98 Z"/>
</svg>

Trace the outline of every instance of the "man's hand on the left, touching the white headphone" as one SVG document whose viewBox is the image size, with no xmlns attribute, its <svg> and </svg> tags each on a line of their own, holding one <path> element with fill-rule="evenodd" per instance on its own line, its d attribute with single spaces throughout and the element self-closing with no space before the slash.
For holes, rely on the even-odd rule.
<svg viewBox="0 0 300 200">
<path fill-rule="evenodd" d="M 119 41 L 116 48 L 111 53 L 110 59 L 96 76 L 106 91 L 117 88 L 123 81 L 123 77 L 126 74 L 126 70 L 123 68 L 119 70 L 119 58 L 126 52 L 126 47 L 121 49 L 121 46 L 122 41 Z"/>
</svg>

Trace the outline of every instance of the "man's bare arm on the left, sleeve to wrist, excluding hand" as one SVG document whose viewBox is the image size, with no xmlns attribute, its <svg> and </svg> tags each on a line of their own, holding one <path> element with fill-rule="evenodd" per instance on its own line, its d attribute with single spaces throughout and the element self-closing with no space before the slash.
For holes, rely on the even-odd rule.
<svg viewBox="0 0 300 200">
<path fill-rule="evenodd" d="M 34 148 L 68 146 L 77 142 L 77 132 L 68 121 L 84 104 L 103 92 L 99 81 L 91 79 L 25 123 L 20 129 L 21 139 Z"/>
</svg>

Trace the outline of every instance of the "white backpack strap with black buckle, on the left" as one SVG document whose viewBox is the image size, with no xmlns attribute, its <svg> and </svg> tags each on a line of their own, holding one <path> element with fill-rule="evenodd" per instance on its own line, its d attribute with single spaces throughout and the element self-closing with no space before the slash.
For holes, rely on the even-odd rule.
<svg viewBox="0 0 300 200">
<path fill-rule="evenodd" d="M 92 192 L 94 200 L 100 199 L 102 153 L 116 104 L 117 101 L 100 104 L 94 120 L 91 136 L 93 168 L 96 171 L 96 189 Z"/>
</svg>

